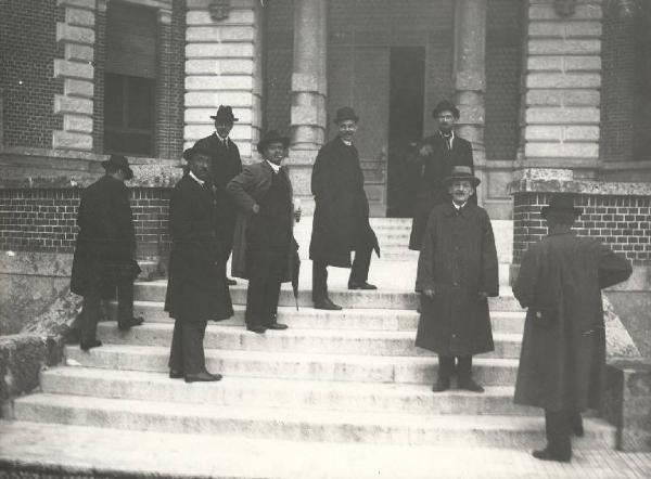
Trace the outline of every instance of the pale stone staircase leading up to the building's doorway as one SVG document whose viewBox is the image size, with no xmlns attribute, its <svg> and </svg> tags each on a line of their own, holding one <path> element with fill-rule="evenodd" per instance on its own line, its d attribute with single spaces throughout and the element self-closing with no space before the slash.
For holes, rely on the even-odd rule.
<svg viewBox="0 0 651 479">
<path fill-rule="evenodd" d="M 413 346 L 418 256 L 406 248 L 410 222 L 372 223 L 383 259 L 373 258 L 369 281 L 379 289 L 349 292 L 348 271 L 330 269 L 331 297 L 343 311 L 311 308 L 311 268 L 305 260 L 309 221 L 296 229 L 305 260 L 299 310 L 289 285 L 280 299 L 279 321 L 288 331 L 246 332 L 245 282 L 231 288 L 235 315 L 210 323 L 205 338 L 208 371 L 224 374 L 220 383 L 188 385 L 167 377 L 173 323 L 163 312 L 166 282 L 141 282 L 136 309 L 145 324 L 122 333 L 115 322 L 101 323 L 102 348 L 84 352 L 67 346 L 66 365 L 44 371 L 42 391 L 15 400 L 13 418 L 235 442 L 288 441 L 290 449 L 306 442 L 518 450 L 544 444 L 540 411 L 512 402 L 524 323 L 508 287 L 512 224 L 494 222 L 502 263 L 500 296 L 490 299 L 496 350 L 475 357 L 473 365 L 486 392 L 435 394 L 430 388 L 436 357 Z M 585 427 L 577 450 L 614 448 L 614 427 L 596 417 Z"/>
</svg>

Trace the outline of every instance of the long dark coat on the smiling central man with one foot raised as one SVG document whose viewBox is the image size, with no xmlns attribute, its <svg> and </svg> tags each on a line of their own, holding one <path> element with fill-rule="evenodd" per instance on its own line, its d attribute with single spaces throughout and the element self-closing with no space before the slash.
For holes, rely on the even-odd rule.
<svg viewBox="0 0 651 479">
<path fill-rule="evenodd" d="M 315 216 L 309 258 L 329 266 L 350 268 L 350 251 L 374 246 L 369 224 L 369 202 L 355 145 L 336 138 L 324 144 L 311 176 Z"/>
</svg>

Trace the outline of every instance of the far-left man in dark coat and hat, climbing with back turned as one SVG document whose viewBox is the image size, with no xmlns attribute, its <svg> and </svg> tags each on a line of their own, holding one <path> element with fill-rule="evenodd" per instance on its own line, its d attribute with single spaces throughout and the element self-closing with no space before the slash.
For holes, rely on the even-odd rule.
<svg viewBox="0 0 651 479">
<path fill-rule="evenodd" d="M 142 324 L 133 318 L 133 281 L 140 273 L 136 262 L 136 232 L 125 180 L 133 178 L 127 158 L 111 155 L 102 161 L 106 171 L 81 194 L 77 213 L 79 234 L 75 247 L 71 290 L 84 296 L 80 347 L 102 346 L 95 333 L 102 299 L 117 289 L 117 325 L 127 331 Z"/>
</svg>

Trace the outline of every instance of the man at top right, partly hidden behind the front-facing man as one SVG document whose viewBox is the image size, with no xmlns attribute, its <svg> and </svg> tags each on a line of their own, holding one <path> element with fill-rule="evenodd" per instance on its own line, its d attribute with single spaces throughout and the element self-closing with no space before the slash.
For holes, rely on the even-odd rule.
<svg viewBox="0 0 651 479">
<path fill-rule="evenodd" d="M 418 185 L 409 249 L 420 250 L 427 218 L 434 206 L 447 203 L 450 197 L 443 180 L 450 176 L 456 166 L 468 166 L 474 174 L 472 145 L 455 134 L 455 124 L 459 119 L 459 109 L 449 101 L 438 102 L 432 116 L 438 122 L 438 131 L 425 138 L 417 146 L 414 160 L 422 165 L 422 174 Z M 471 196 L 472 203 L 476 195 Z"/>
</svg>

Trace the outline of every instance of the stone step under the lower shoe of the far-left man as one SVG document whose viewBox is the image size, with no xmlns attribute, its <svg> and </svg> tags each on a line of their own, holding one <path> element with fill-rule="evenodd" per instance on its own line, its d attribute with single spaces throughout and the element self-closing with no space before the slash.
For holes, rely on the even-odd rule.
<svg viewBox="0 0 651 479">
<path fill-rule="evenodd" d="M 278 379 L 411 383 L 432 385 L 436 357 L 369 357 L 206 349 L 206 367 L 225 376 Z M 104 345 L 81 351 L 66 346 L 66 364 L 118 371 L 167 373 L 168 346 Z M 516 359 L 473 359 L 473 377 L 485 386 L 515 384 Z"/>
</svg>

